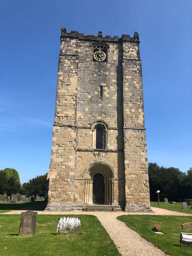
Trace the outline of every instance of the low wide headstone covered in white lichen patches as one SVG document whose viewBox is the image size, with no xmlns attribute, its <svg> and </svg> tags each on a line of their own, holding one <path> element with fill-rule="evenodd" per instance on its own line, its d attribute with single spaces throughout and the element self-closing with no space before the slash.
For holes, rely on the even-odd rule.
<svg viewBox="0 0 192 256">
<path fill-rule="evenodd" d="M 80 234 L 81 219 L 79 217 L 60 217 L 57 221 L 57 234 Z"/>
</svg>

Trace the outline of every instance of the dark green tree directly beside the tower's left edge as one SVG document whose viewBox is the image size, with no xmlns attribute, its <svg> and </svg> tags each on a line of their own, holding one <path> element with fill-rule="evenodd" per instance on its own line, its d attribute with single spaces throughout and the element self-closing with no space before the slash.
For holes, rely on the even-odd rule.
<svg viewBox="0 0 192 256">
<path fill-rule="evenodd" d="M 40 175 L 40 176 L 37 176 L 36 178 L 30 179 L 29 182 L 24 183 L 22 187 L 27 189 L 30 195 L 45 196 L 46 181 L 47 181 L 47 174 Z"/>
</svg>

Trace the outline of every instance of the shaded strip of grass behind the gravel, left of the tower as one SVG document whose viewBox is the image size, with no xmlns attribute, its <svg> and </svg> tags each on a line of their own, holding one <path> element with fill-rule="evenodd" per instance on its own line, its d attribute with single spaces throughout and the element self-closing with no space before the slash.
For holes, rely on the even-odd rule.
<svg viewBox="0 0 192 256">
<path fill-rule="evenodd" d="M 16 202 L 15 204 L 10 204 L 9 202 L 0 201 L 0 212 L 8 212 L 12 210 L 18 210 L 27 206 L 43 204 L 45 201 L 32 201 L 32 202 Z"/>
</svg>

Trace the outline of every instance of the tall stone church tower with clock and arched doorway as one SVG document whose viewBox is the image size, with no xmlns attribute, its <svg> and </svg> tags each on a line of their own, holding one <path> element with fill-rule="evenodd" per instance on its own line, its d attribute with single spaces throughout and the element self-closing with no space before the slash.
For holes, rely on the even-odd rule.
<svg viewBox="0 0 192 256">
<path fill-rule="evenodd" d="M 147 167 L 138 33 L 62 27 L 46 209 L 151 211 Z"/>
</svg>

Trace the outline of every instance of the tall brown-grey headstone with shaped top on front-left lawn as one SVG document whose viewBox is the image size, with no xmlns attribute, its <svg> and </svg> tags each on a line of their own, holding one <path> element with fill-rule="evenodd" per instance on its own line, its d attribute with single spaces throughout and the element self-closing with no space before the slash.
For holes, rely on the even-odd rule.
<svg viewBox="0 0 192 256">
<path fill-rule="evenodd" d="M 26 211 L 21 213 L 19 236 L 35 236 L 37 212 Z"/>
</svg>

